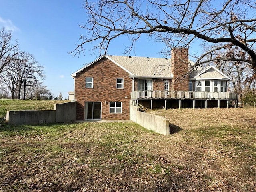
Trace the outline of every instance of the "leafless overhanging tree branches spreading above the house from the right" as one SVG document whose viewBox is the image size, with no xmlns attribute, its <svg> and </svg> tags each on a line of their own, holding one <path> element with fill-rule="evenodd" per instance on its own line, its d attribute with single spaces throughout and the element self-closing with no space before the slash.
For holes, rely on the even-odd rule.
<svg viewBox="0 0 256 192">
<path fill-rule="evenodd" d="M 131 44 L 142 34 L 170 47 L 189 47 L 199 41 L 206 53 L 198 56 L 196 64 L 209 61 L 206 56 L 215 50 L 234 45 L 246 56 L 218 57 L 218 60 L 242 61 L 256 70 L 256 3 L 252 0 L 85 0 L 88 20 L 80 27 L 88 33 L 73 54 L 85 50 L 93 42 L 92 50 L 106 51 L 109 43 L 126 35 Z M 210 60 L 215 60 L 212 56 Z"/>
</svg>

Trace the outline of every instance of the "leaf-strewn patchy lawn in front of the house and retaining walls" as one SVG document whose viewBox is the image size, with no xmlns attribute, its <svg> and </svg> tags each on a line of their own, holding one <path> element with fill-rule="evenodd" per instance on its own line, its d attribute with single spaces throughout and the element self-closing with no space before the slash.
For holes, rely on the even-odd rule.
<svg viewBox="0 0 256 192">
<path fill-rule="evenodd" d="M 255 191 L 256 109 L 152 113 L 170 136 L 132 122 L 2 124 L 0 191 Z"/>
</svg>

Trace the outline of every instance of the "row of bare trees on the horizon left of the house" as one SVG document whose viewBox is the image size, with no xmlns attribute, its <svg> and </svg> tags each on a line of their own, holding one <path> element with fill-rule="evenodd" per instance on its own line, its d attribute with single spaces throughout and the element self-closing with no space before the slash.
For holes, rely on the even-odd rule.
<svg viewBox="0 0 256 192">
<path fill-rule="evenodd" d="M 12 31 L 1 28 L 0 98 L 52 100 L 52 93 L 42 85 L 44 78 L 43 66 L 32 54 L 20 50 Z"/>
</svg>

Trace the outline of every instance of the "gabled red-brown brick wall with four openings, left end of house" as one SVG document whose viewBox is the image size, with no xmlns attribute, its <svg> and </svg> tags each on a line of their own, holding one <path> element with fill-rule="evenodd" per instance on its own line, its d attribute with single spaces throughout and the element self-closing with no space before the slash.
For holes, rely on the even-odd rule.
<svg viewBox="0 0 256 192">
<path fill-rule="evenodd" d="M 93 77 L 93 88 L 85 88 L 86 77 Z M 124 78 L 124 89 L 116 88 L 116 78 Z M 131 91 L 132 79 L 126 71 L 107 58 L 99 60 L 75 77 L 77 119 L 84 120 L 84 102 L 101 102 L 102 120 L 129 119 Z M 110 114 L 109 102 L 122 102 L 122 114 Z"/>
</svg>

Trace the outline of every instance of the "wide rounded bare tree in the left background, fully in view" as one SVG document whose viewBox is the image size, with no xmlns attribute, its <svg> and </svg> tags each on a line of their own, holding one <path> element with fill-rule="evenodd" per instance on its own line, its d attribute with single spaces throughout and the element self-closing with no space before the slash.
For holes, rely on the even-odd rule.
<svg viewBox="0 0 256 192">
<path fill-rule="evenodd" d="M 24 78 L 31 79 L 37 84 L 45 77 L 43 66 L 35 60 L 33 55 L 26 52 L 21 52 L 14 60 L 11 60 L 0 76 L 8 86 L 12 99 L 14 99 L 14 93 L 17 93 L 17 98 L 20 99 Z"/>
</svg>

